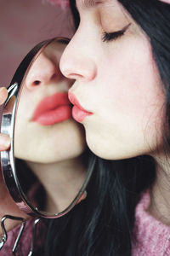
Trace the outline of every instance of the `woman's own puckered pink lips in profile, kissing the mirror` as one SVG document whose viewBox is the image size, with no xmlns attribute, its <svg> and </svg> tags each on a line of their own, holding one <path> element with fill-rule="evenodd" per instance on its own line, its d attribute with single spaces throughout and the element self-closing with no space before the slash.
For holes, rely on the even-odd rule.
<svg viewBox="0 0 170 256">
<path fill-rule="evenodd" d="M 77 122 L 81 123 L 83 119 L 85 119 L 87 116 L 92 115 L 92 112 L 88 112 L 82 106 L 80 103 L 77 101 L 77 97 L 74 96 L 71 92 L 69 92 L 69 100 L 71 103 L 74 105 L 72 108 L 72 117 L 75 119 Z"/>
</svg>

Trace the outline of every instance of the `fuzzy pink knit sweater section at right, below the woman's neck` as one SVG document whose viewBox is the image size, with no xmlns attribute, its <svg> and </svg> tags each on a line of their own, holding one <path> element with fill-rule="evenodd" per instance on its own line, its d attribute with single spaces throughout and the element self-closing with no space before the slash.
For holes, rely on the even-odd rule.
<svg viewBox="0 0 170 256">
<path fill-rule="evenodd" d="M 150 205 L 150 192 L 142 195 L 135 210 L 133 230 L 133 256 L 169 256 L 170 227 L 153 218 L 147 208 Z"/>
</svg>

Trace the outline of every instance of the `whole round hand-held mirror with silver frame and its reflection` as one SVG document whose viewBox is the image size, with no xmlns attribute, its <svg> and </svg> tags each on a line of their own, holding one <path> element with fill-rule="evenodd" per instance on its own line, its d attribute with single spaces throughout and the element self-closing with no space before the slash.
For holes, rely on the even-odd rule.
<svg viewBox="0 0 170 256">
<path fill-rule="evenodd" d="M 67 38 L 38 44 L 14 74 L 1 132 L 12 138 L 1 153 L 3 177 L 21 210 L 58 218 L 86 196 L 95 157 L 88 161 L 82 125 L 71 118 L 73 81 L 59 71 Z"/>
</svg>

